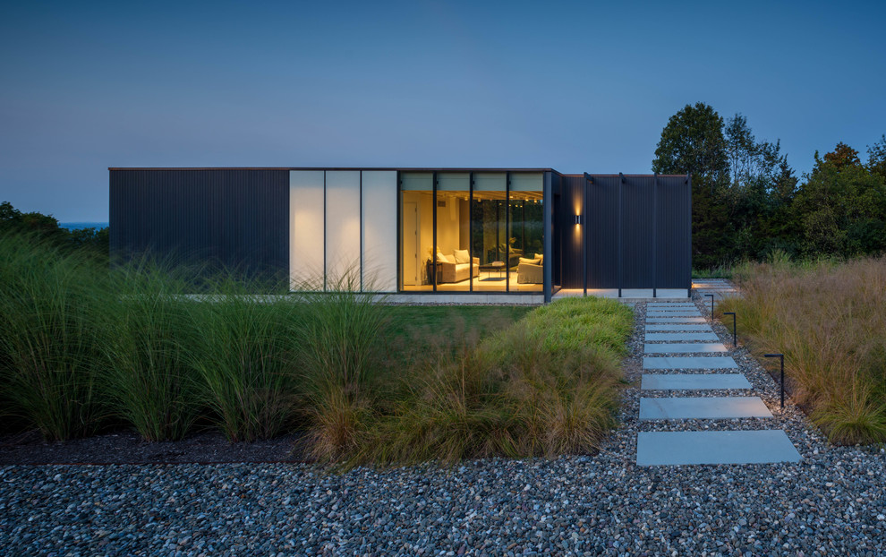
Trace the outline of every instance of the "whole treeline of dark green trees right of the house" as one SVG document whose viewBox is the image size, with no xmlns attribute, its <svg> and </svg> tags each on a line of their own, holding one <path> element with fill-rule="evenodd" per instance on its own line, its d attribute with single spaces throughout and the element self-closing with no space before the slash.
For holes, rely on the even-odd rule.
<svg viewBox="0 0 886 557">
<path fill-rule="evenodd" d="M 797 177 L 779 141 L 757 141 L 745 116 L 686 105 L 661 132 L 652 171 L 692 174 L 693 264 L 710 269 L 886 251 L 886 135 L 867 160 L 839 142 Z"/>
</svg>

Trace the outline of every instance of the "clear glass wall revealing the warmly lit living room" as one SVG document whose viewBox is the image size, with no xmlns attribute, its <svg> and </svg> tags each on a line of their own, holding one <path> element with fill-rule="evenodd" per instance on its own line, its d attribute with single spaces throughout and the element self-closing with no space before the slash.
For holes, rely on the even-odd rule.
<svg viewBox="0 0 886 557">
<path fill-rule="evenodd" d="M 402 290 L 542 291 L 542 173 L 400 177 Z"/>
</svg>

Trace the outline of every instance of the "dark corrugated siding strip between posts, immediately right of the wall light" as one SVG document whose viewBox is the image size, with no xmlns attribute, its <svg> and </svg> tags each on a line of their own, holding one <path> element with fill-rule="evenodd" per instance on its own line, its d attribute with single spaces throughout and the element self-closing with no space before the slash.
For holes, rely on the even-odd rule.
<svg viewBox="0 0 886 557">
<path fill-rule="evenodd" d="M 618 176 L 592 176 L 587 184 L 588 287 L 618 287 Z"/>
</svg>

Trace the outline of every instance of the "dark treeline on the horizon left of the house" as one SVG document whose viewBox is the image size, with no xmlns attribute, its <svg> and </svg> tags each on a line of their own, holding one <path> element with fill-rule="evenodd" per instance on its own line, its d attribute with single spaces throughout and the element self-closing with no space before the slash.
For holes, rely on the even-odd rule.
<svg viewBox="0 0 886 557">
<path fill-rule="evenodd" d="M 0 203 L 0 236 L 29 236 L 63 252 L 81 251 L 108 257 L 108 229 L 80 228 L 68 230 L 58 226 L 55 217 L 43 213 L 23 213 L 9 201 Z"/>
</svg>

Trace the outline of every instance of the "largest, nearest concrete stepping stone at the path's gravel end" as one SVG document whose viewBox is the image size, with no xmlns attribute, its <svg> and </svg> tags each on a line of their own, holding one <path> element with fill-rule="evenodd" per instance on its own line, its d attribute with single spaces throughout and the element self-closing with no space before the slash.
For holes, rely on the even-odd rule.
<svg viewBox="0 0 886 557">
<path fill-rule="evenodd" d="M 637 466 L 764 464 L 803 458 L 784 431 L 641 432 Z"/>
</svg>

